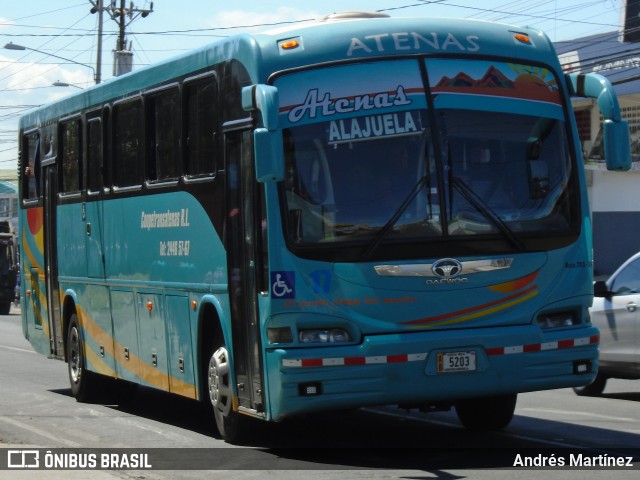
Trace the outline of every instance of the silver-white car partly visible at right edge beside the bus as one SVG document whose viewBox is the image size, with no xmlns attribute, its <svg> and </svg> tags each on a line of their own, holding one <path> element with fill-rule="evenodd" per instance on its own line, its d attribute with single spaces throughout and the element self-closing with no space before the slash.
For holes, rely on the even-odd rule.
<svg viewBox="0 0 640 480">
<path fill-rule="evenodd" d="M 600 395 L 608 378 L 640 379 L 640 252 L 606 281 L 594 283 L 591 322 L 600 329 L 600 368 L 595 380 L 574 388 Z"/>
</svg>

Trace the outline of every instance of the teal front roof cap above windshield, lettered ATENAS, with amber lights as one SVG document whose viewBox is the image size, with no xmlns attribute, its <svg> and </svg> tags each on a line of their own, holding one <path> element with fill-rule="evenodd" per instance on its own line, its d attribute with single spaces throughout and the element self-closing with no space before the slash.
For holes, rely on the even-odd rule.
<svg viewBox="0 0 640 480">
<path fill-rule="evenodd" d="M 528 43 L 515 39 L 516 34 L 528 37 Z M 466 19 L 389 17 L 319 20 L 257 34 L 265 64 L 286 59 L 276 45 L 296 37 L 302 41 L 298 48 L 304 50 L 305 64 L 412 54 L 471 53 L 547 62 L 552 61 L 551 54 L 555 57 L 548 37 L 527 27 Z"/>
</svg>

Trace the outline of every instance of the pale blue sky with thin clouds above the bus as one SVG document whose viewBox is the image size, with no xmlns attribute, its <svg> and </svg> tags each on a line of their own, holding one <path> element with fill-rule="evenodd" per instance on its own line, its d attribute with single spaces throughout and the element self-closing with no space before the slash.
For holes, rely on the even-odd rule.
<svg viewBox="0 0 640 480">
<path fill-rule="evenodd" d="M 103 0 L 105 5 L 111 0 Z M 94 3 L 95 0 L 94 0 Z M 150 9 L 146 0 L 126 0 Z M 127 17 L 133 68 L 161 61 L 220 37 L 268 30 L 283 22 L 341 11 L 393 17 L 457 17 L 526 25 L 553 41 L 618 29 L 624 0 L 155 0 L 153 12 Z M 116 0 L 120 5 L 120 0 Z M 94 83 L 98 15 L 90 0 L 3 0 L 0 4 L 0 170 L 17 172 L 21 112 Z M 104 14 L 102 80 L 113 76 L 118 25 Z M 7 43 L 32 50 L 3 49 Z M 34 51 L 36 50 L 36 51 Z M 62 57 L 62 59 L 60 58 Z M 64 59 L 64 60 L 63 60 Z M 68 86 L 53 86 L 54 83 Z"/>
</svg>

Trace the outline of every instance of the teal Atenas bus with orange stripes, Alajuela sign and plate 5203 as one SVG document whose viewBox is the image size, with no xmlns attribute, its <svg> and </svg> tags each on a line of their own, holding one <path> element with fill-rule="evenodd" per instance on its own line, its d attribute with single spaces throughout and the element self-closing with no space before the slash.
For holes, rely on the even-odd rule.
<svg viewBox="0 0 640 480">
<path fill-rule="evenodd" d="M 230 442 L 251 417 L 377 405 L 504 428 L 518 393 L 598 367 L 572 97 L 629 168 L 606 79 L 477 21 L 334 14 L 39 107 L 24 334 L 77 400 L 201 400 Z"/>
</svg>

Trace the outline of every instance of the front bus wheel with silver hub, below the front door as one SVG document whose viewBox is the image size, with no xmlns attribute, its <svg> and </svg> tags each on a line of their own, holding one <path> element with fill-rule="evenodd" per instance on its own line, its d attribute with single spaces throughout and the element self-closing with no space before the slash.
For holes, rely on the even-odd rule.
<svg viewBox="0 0 640 480">
<path fill-rule="evenodd" d="M 216 427 L 222 438 L 229 443 L 242 440 L 245 419 L 233 410 L 233 386 L 231 385 L 229 353 L 224 345 L 213 349 L 209 356 L 207 386 Z"/>
</svg>

